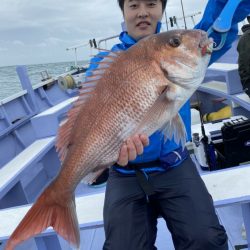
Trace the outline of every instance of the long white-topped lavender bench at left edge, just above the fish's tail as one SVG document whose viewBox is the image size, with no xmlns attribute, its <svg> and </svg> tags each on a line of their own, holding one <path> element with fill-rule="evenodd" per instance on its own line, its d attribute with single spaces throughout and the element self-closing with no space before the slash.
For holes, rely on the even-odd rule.
<svg viewBox="0 0 250 250">
<path fill-rule="evenodd" d="M 34 174 L 32 166 L 44 157 L 54 142 L 55 136 L 36 140 L 0 169 L 0 208 L 29 202 L 22 179 Z"/>
</svg>

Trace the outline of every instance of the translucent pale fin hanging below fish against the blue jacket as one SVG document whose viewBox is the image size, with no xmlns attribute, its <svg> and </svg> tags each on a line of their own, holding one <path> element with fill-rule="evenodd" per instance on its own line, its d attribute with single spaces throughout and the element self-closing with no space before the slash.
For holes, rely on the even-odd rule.
<svg viewBox="0 0 250 250">
<path fill-rule="evenodd" d="M 174 141 L 176 144 L 181 143 L 182 148 L 185 147 L 187 132 L 179 113 L 169 122 L 165 123 L 162 126 L 161 131 L 164 134 L 165 140 L 172 139 L 174 137 Z"/>
</svg>

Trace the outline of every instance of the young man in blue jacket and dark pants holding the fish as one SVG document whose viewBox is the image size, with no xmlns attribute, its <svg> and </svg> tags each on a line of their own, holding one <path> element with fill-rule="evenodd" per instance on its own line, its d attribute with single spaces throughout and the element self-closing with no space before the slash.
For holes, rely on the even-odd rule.
<svg viewBox="0 0 250 250">
<path fill-rule="evenodd" d="M 218 17 L 226 0 L 210 0 L 202 21 L 196 28 L 208 30 Z M 112 51 L 127 50 L 138 40 L 160 31 L 160 20 L 166 0 L 118 0 L 126 24 L 120 35 L 121 43 Z M 248 4 L 249 5 L 249 4 Z M 242 20 L 245 6 L 240 6 L 234 24 Z M 250 6 L 248 8 L 249 11 Z M 244 12 L 242 14 L 242 11 Z M 233 25 L 228 39 L 214 62 L 236 38 Z M 219 36 L 215 36 L 215 41 Z M 104 55 L 105 53 L 101 53 Z M 97 67 L 98 57 L 92 59 L 87 72 Z M 190 106 L 180 110 L 188 138 L 191 138 Z M 161 132 L 150 138 L 134 135 L 120 151 L 117 164 L 112 166 L 104 204 L 104 250 L 153 250 L 157 218 L 166 221 L 175 249 L 226 250 L 227 236 L 215 214 L 213 201 L 187 150 L 171 140 L 164 142 Z M 166 246 L 166 249 L 168 246 Z"/>
</svg>

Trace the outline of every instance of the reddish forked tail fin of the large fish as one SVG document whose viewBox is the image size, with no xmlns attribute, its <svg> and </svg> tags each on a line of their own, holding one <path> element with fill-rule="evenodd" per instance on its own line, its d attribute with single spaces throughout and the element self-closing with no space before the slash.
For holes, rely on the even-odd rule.
<svg viewBox="0 0 250 250">
<path fill-rule="evenodd" d="M 80 234 L 74 196 L 71 195 L 69 198 L 67 195 L 64 201 L 60 204 L 56 202 L 54 187 L 48 186 L 12 233 L 5 250 L 14 250 L 16 245 L 50 226 L 78 249 Z"/>
</svg>

